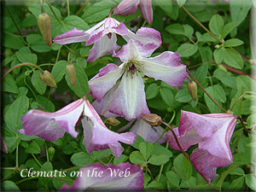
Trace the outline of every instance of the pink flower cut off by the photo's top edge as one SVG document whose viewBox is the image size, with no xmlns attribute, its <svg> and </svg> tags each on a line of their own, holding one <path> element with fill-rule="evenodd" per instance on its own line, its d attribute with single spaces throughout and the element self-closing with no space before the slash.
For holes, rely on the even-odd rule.
<svg viewBox="0 0 256 192">
<path fill-rule="evenodd" d="M 152 24 L 153 9 L 151 0 L 123 0 L 117 8 L 114 10 L 115 15 L 130 15 L 137 11 L 137 7 L 141 10 L 141 13 L 145 20 L 149 24 Z"/>
</svg>

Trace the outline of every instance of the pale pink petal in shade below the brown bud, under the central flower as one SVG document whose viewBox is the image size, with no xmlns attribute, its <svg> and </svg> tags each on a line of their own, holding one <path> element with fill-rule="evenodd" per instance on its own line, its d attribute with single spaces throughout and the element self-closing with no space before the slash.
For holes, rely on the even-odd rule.
<svg viewBox="0 0 256 192">
<path fill-rule="evenodd" d="M 148 125 L 143 119 L 137 119 L 135 125 L 131 127 L 130 131 L 137 134 L 140 137 L 143 137 L 143 139 L 146 142 L 154 143 L 159 139 L 159 137 L 162 135 L 162 133 L 165 130 L 160 126 Z M 157 144 L 161 144 L 165 142 L 166 142 L 166 137 L 163 136 L 160 139 L 160 141 L 158 141 Z"/>
</svg>

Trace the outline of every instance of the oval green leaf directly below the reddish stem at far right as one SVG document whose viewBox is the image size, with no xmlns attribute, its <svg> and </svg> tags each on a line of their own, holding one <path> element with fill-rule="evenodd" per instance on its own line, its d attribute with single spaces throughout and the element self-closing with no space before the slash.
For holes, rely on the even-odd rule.
<svg viewBox="0 0 256 192">
<path fill-rule="evenodd" d="M 236 78 L 231 76 L 229 73 L 225 73 L 223 70 L 216 69 L 213 73 L 213 76 L 220 80 L 223 84 L 236 88 Z"/>
</svg>

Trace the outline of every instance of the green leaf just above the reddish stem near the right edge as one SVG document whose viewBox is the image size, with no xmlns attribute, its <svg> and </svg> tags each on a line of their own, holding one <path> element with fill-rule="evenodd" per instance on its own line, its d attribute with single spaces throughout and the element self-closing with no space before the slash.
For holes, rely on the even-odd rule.
<svg viewBox="0 0 256 192">
<path fill-rule="evenodd" d="M 224 62 L 230 67 L 238 69 L 243 68 L 243 60 L 241 55 L 230 48 L 224 49 Z"/>
</svg>

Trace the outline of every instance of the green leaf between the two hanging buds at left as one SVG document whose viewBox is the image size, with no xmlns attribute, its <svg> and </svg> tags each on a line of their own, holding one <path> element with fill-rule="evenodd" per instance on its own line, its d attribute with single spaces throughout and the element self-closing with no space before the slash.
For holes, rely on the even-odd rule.
<svg viewBox="0 0 256 192">
<path fill-rule="evenodd" d="M 54 76 L 55 82 L 59 83 L 63 76 L 66 74 L 67 71 L 67 61 L 57 61 L 54 67 L 51 70 L 52 75 Z"/>
</svg>

